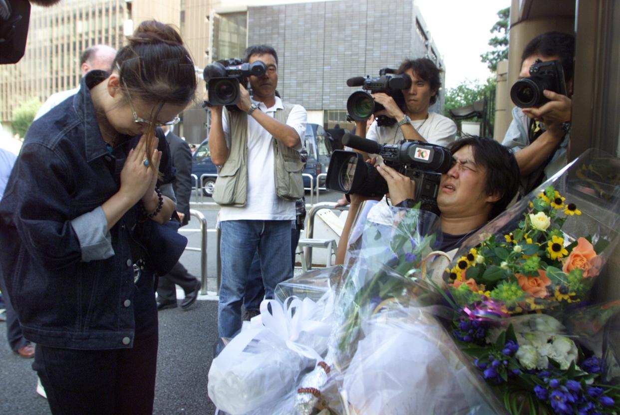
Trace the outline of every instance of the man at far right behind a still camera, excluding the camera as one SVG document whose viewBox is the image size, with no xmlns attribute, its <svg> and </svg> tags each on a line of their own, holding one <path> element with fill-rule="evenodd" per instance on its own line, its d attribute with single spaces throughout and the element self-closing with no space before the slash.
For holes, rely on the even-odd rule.
<svg viewBox="0 0 620 415">
<path fill-rule="evenodd" d="M 559 60 L 564 69 L 567 95 L 544 91 L 549 102 L 538 108 L 512 110 L 512 121 L 502 144 L 515 153 L 521 170 L 520 193 L 525 195 L 551 177 L 567 162 L 570 105 L 573 89 L 575 37 L 569 33 L 542 33 L 529 41 L 521 55 L 520 77 L 529 77 L 529 67 Z"/>
</svg>

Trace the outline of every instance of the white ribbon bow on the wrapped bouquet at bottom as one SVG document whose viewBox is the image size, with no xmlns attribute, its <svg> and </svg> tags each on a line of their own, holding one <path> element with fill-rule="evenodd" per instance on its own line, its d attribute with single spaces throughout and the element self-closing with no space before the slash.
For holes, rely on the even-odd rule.
<svg viewBox="0 0 620 415">
<path fill-rule="evenodd" d="M 327 301 L 328 308 L 331 303 Z M 236 355 L 244 351 L 252 340 L 272 341 L 275 336 L 300 356 L 316 359 L 319 362 L 322 358 L 316 350 L 306 344 L 297 343 L 301 333 L 321 337 L 329 336 L 331 331 L 329 323 L 311 320 L 319 311 L 318 307 L 319 305 L 309 298 L 300 300 L 298 297 L 288 297 L 284 306 L 276 300 L 263 300 L 260 303 L 260 315 L 244 324 L 241 333 L 224 347 L 218 358 L 235 359 Z"/>
</svg>

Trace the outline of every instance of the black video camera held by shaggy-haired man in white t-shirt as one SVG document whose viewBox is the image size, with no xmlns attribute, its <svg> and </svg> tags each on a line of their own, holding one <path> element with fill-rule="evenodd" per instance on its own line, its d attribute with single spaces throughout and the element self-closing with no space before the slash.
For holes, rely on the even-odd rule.
<svg viewBox="0 0 620 415">
<path fill-rule="evenodd" d="M 411 78 L 407 74 L 394 75 L 396 69 L 383 68 L 379 71 L 379 77 L 371 78 L 370 76 L 356 76 L 347 79 L 347 85 L 350 87 L 361 87 L 363 91 L 356 91 L 348 97 L 347 111 L 348 115 L 355 121 L 368 120 L 370 116 L 385 107 L 378 102 L 370 93 L 384 92 L 394 98 L 396 105 L 401 110 L 405 110 L 405 97 L 402 95 L 403 89 L 411 87 Z M 369 92 L 366 92 L 369 91 Z M 387 115 L 375 116 L 377 125 L 392 125 L 396 123 L 394 118 Z"/>
</svg>

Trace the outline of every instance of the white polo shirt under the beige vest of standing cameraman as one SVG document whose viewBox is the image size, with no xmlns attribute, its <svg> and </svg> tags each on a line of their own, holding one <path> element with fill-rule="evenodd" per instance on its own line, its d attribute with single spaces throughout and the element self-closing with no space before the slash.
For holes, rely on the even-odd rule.
<svg viewBox="0 0 620 415">
<path fill-rule="evenodd" d="M 267 108 L 264 103 L 252 99 L 259 110 L 269 116 L 275 110 L 284 108 L 282 100 L 275 98 L 275 105 Z M 306 135 L 308 113 L 301 105 L 295 105 L 286 119 L 299 134 L 300 142 L 296 150 L 301 150 Z M 226 142 L 230 142 L 230 128 L 226 116 L 222 113 L 222 127 Z M 229 146 L 230 147 L 230 146 Z M 219 210 L 220 221 L 289 221 L 296 217 L 294 201 L 287 201 L 275 193 L 275 174 L 273 172 L 272 134 L 263 128 L 254 117 L 247 117 L 247 201 L 246 206 L 222 206 Z"/>
</svg>

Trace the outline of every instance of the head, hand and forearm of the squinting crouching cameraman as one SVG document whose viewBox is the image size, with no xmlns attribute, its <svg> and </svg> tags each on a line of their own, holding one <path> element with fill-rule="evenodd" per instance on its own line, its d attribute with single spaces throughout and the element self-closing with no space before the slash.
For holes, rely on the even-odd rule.
<svg viewBox="0 0 620 415">
<path fill-rule="evenodd" d="M 453 142 L 448 149 L 452 152 L 453 165 L 441 175 L 437 194 L 443 234 L 443 242 L 437 249 L 445 252 L 458 248 L 467 237 L 506 209 L 516 194 L 519 177 L 515 157 L 492 139 L 468 137 Z M 414 181 L 384 164 L 376 169 L 387 182 L 393 206 L 414 206 Z M 370 199 L 356 194 L 350 197 L 351 206 L 338 244 L 337 264 L 344 262 L 349 232 L 361 203 Z"/>
</svg>

